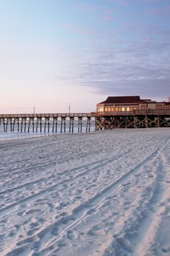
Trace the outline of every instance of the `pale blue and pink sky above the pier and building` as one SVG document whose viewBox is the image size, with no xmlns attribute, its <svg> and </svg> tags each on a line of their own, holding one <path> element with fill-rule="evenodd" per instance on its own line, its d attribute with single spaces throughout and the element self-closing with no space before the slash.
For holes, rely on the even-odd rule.
<svg viewBox="0 0 170 256">
<path fill-rule="evenodd" d="M 0 114 L 170 96 L 169 0 L 0 0 Z"/>
</svg>

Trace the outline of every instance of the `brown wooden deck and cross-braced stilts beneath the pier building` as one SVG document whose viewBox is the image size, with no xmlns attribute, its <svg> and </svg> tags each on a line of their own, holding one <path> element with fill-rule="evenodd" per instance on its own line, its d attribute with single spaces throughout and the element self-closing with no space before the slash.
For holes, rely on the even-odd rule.
<svg viewBox="0 0 170 256">
<path fill-rule="evenodd" d="M 94 112 L 95 129 L 170 127 L 170 110 Z"/>
</svg>

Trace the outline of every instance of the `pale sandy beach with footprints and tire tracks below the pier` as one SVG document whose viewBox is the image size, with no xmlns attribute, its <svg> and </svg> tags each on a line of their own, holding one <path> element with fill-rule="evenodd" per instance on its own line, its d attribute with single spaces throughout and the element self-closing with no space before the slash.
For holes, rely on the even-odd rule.
<svg viewBox="0 0 170 256">
<path fill-rule="evenodd" d="M 0 255 L 170 255 L 170 129 L 0 141 Z"/>
</svg>

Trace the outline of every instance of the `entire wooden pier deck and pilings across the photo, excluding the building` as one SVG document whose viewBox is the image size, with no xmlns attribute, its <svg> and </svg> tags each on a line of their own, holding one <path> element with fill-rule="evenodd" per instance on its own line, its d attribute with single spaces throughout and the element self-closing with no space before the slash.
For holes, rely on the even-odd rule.
<svg viewBox="0 0 170 256">
<path fill-rule="evenodd" d="M 116 128 L 170 127 L 170 110 L 66 114 L 0 114 L 1 132 L 90 132 Z"/>
</svg>

